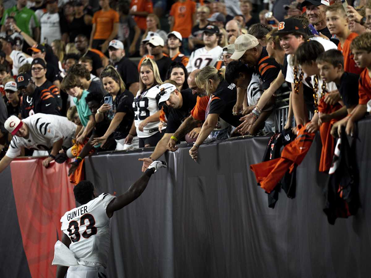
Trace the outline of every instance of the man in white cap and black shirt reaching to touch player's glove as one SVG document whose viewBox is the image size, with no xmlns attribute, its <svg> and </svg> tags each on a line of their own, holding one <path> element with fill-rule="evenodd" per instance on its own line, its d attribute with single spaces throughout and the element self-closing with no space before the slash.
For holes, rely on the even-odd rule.
<svg viewBox="0 0 371 278">
<path fill-rule="evenodd" d="M 139 161 L 143 161 L 142 172 L 144 172 L 154 160 L 157 160 L 166 152 L 166 146 L 170 138 L 172 138 L 171 136 L 173 136 L 181 123 L 190 116 L 191 110 L 197 102 L 197 95 L 193 95 L 191 89 L 179 92 L 176 83 L 172 80 L 167 80 L 166 83 L 160 85 L 158 89 L 158 105 L 166 105 L 168 108 L 167 127 L 164 136 L 158 141 L 150 157 L 139 158 Z M 179 138 L 179 140 L 182 140 L 182 138 Z"/>
</svg>

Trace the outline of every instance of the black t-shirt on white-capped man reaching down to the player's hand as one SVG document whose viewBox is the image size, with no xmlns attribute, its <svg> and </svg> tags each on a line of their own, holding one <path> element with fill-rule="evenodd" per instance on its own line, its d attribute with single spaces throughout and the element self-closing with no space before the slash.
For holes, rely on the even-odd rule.
<svg viewBox="0 0 371 278">
<path fill-rule="evenodd" d="M 179 109 L 168 107 L 165 133 L 174 133 L 196 105 L 197 96 L 192 94 L 191 89 L 182 90 L 180 93 L 183 98 L 183 105 Z"/>
</svg>

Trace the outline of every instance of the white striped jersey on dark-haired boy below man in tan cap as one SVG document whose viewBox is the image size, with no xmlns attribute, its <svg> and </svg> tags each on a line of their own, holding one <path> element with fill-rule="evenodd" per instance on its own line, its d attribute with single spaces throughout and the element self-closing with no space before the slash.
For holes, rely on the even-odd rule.
<svg viewBox="0 0 371 278">
<path fill-rule="evenodd" d="M 247 87 L 247 102 L 249 106 L 257 105 L 260 97 L 263 95 L 263 80 L 257 73 L 253 73 L 249 86 Z M 268 107 L 263 111 L 271 110 L 272 113 L 265 120 L 265 129 L 269 131 L 275 131 L 275 113 L 272 110 L 273 107 Z"/>
</svg>

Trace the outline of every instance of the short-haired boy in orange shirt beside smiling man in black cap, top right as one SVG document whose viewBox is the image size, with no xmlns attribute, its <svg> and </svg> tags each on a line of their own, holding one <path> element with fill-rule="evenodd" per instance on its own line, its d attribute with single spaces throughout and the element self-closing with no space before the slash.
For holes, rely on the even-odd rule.
<svg viewBox="0 0 371 278">
<path fill-rule="evenodd" d="M 350 44 L 358 34 L 349 30 L 349 19 L 341 4 L 326 7 L 326 26 L 330 33 L 339 39 L 338 50 L 343 52 L 344 71 L 359 75 L 363 68 L 355 65 L 350 51 Z"/>
</svg>

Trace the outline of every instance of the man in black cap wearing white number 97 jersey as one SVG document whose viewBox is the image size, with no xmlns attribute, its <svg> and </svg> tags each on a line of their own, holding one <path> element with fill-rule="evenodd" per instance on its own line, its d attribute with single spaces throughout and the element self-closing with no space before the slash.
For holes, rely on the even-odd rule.
<svg viewBox="0 0 371 278">
<path fill-rule="evenodd" d="M 223 48 L 218 45 L 219 28 L 208 25 L 203 33 L 204 47 L 194 50 L 189 57 L 187 72 L 195 69 L 203 69 L 206 66 L 214 66 L 221 58 Z"/>
</svg>

